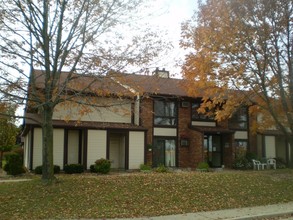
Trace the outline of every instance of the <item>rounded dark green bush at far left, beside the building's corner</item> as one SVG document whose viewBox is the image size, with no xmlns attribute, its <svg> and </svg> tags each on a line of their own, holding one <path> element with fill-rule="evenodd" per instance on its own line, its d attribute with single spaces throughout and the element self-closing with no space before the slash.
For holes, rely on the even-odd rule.
<svg viewBox="0 0 293 220">
<path fill-rule="evenodd" d="M 25 173 L 25 170 L 22 165 L 22 157 L 17 153 L 7 153 L 5 154 L 6 164 L 4 166 L 4 170 L 9 175 L 18 175 Z"/>
</svg>

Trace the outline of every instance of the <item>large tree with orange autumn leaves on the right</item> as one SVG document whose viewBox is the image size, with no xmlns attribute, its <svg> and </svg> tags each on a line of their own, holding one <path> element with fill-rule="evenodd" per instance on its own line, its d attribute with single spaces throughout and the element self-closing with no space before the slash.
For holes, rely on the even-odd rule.
<svg viewBox="0 0 293 220">
<path fill-rule="evenodd" d="M 199 1 L 193 18 L 182 25 L 181 45 L 190 49 L 183 72 L 190 93 L 203 94 L 202 111 L 221 103 L 222 120 L 251 105 L 267 116 L 263 128 L 275 126 L 292 143 L 293 1 Z"/>
</svg>

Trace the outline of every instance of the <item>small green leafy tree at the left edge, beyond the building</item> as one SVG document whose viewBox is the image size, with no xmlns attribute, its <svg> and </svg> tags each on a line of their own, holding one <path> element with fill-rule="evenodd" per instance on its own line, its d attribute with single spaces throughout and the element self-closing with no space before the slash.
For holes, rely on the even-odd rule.
<svg viewBox="0 0 293 220">
<path fill-rule="evenodd" d="M 0 169 L 2 168 L 3 153 L 10 151 L 16 144 L 18 129 L 14 124 L 14 118 L 9 117 L 14 111 L 13 105 L 0 103 Z"/>
</svg>

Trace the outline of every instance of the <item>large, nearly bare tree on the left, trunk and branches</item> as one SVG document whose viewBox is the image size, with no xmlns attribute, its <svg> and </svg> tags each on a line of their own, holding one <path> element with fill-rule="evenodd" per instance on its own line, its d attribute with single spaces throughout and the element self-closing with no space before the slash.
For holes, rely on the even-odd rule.
<svg viewBox="0 0 293 220">
<path fill-rule="evenodd" d="M 1 0 L 0 60 L 11 99 L 27 101 L 42 116 L 42 180 L 54 181 L 53 111 L 59 103 L 89 92 L 98 78 L 70 91 L 81 76 L 105 75 L 109 70 L 146 65 L 166 44 L 147 26 L 134 26 L 138 12 L 147 9 L 140 0 Z M 141 25 L 141 24 L 140 24 Z M 123 42 L 123 43 L 122 43 Z M 27 71 L 24 67 L 28 67 Z M 42 71 L 42 91 L 35 70 Z M 64 70 L 68 74 L 64 74 Z M 15 73 L 18 72 L 18 78 Z M 4 76 L 6 74 L 6 76 Z M 29 81 L 29 94 L 20 83 Z M 82 88 L 81 88 L 82 87 Z M 91 91 L 95 92 L 95 91 Z M 23 94 L 23 96 L 19 96 Z"/>
</svg>

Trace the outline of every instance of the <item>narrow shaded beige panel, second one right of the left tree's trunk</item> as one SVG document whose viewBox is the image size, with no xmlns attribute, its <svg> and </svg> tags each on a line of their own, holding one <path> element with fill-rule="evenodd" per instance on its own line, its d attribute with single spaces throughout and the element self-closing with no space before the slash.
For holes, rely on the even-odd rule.
<svg viewBox="0 0 293 220">
<path fill-rule="evenodd" d="M 69 130 L 68 131 L 68 164 L 78 163 L 78 146 L 79 146 L 79 131 Z"/>
</svg>

